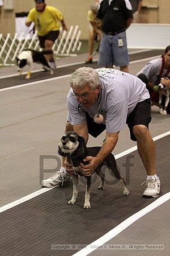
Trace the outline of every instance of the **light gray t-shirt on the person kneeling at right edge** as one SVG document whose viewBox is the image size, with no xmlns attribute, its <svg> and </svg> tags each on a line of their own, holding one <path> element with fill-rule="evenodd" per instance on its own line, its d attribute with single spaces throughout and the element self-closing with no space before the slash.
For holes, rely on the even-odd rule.
<svg viewBox="0 0 170 256">
<path fill-rule="evenodd" d="M 158 76 L 161 68 L 162 68 L 162 57 L 148 62 L 145 65 L 145 67 L 143 67 L 141 71 L 137 73 L 137 76 L 143 73 L 146 75 L 148 80 L 150 80 L 153 84 L 156 84 L 156 82 L 158 81 Z M 162 72 L 162 77 L 166 72 L 167 72 L 167 69 L 164 68 Z M 168 77 L 170 79 L 170 73 L 168 74 Z"/>
</svg>

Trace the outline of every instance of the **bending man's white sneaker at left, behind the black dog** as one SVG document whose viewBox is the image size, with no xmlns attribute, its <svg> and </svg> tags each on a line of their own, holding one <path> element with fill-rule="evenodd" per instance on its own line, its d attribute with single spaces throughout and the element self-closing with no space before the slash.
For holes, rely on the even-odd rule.
<svg viewBox="0 0 170 256">
<path fill-rule="evenodd" d="M 62 169 L 49 177 L 49 179 L 42 180 L 41 185 L 47 188 L 59 187 L 64 182 L 70 182 L 70 175 L 66 174 Z"/>
</svg>

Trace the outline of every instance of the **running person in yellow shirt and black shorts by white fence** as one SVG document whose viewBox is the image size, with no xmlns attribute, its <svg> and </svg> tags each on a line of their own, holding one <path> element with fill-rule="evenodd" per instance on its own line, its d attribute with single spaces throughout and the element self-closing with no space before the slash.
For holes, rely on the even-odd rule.
<svg viewBox="0 0 170 256">
<path fill-rule="evenodd" d="M 32 22 L 35 23 L 40 46 L 45 50 L 52 50 L 59 35 L 59 22 L 61 22 L 63 30 L 67 31 L 63 14 L 56 8 L 46 5 L 45 0 L 35 0 L 35 8 L 29 11 L 25 24 L 29 27 Z M 53 55 L 46 55 L 46 60 L 54 69 Z"/>
</svg>

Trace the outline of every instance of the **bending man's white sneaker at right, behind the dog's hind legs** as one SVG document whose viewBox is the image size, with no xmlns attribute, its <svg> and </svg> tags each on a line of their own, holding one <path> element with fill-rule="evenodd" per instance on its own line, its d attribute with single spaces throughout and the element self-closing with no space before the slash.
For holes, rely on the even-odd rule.
<svg viewBox="0 0 170 256">
<path fill-rule="evenodd" d="M 144 181 L 141 185 L 146 183 L 146 189 L 143 193 L 143 196 L 147 197 L 158 197 L 160 193 L 160 180 L 159 177 L 155 179 L 154 176 L 151 176 L 150 179 Z"/>
</svg>

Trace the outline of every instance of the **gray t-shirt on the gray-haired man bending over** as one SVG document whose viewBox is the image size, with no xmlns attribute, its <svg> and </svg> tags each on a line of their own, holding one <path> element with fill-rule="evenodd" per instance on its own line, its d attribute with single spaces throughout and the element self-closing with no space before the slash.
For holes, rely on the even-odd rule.
<svg viewBox="0 0 170 256">
<path fill-rule="evenodd" d="M 126 125 L 126 118 L 138 102 L 150 98 L 146 85 L 133 75 L 116 69 L 100 69 L 99 100 L 84 110 L 70 89 L 67 95 L 67 120 L 71 125 L 79 125 L 86 120 L 86 112 L 90 117 L 99 113 L 99 107 L 104 116 L 103 123 L 108 133 L 116 133 Z"/>
</svg>

